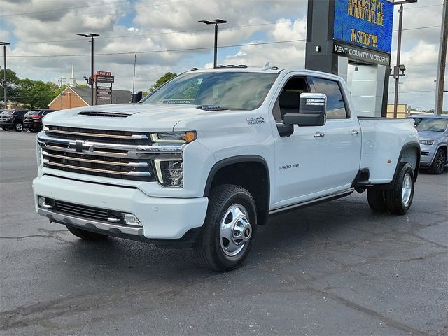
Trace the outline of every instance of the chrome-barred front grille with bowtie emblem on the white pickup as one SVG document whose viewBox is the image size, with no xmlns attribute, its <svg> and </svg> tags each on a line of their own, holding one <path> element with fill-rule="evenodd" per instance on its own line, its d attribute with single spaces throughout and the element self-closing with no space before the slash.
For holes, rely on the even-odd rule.
<svg viewBox="0 0 448 336">
<path fill-rule="evenodd" d="M 77 132 L 78 131 L 78 132 Z M 101 139 L 99 141 L 93 141 Z M 183 148 L 151 144 L 144 133 L 44 127 L 37 141 L 43 167 L 64 172 L 134 181 L 156 181 L 153 159 L 181 158 Z M 146 144 L 142 144 L 145 141 Z"/>
</svg>

